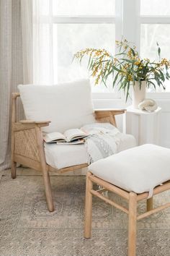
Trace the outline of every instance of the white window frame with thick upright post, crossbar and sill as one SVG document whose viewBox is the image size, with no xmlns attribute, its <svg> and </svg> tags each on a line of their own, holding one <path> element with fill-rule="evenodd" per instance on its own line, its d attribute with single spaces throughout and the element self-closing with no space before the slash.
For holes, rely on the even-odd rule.
<svg viewBox="0 0 170 256">
<path fill-rule="evenodd" d="M 170 24 L 170 17 L 160 16 L 141 16 L 140 1 L 142 0 L 115 0 L 115 17 L 114 16 L 53 16 L 53 5 L 50 1 L 50 20 L 49 17 L 43 17 L 42 22 L 50 22 L 51 25 L 56 24 L 115 24 L 115 38 L 121 40 L 126 38 L 133 42 L 140 52 L 140 25 L 141 24 Z M 52 26 L 51 26 L 52 29 Z M 51 40 L 53 41 L 53 40 Z M 51 47 L 52 48 L 52 47 Z M 169 99 L 170 93 L 147 93 L 147 97 L 157 99 Z M 117 99 L 125 101 L 123 93 L 116 92 L 101 92 L 92 93 L 94 99 Z"/>
</svg>

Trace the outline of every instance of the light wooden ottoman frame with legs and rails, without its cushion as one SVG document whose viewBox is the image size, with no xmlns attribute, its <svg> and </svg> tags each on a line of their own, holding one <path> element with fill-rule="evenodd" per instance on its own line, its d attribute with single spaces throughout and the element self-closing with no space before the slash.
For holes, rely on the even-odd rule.
<svg viewBox="0 0 170 256">
<path fill-rule="evenodd" d="M 102 186 L 102 189 L 94 190 L 93 184 L 98 184 Z M 153 195 L 159 194 L 166 190 L 170 189 L 170 181 L 164 182 L 160 186 L 153 189 Z M 115 194 L 120 195 L 120 197 L 125 198 L 128 200 L 128 209 L 118 205 L 116 202 L 109 200 L 108 197 L 102 195 L 104 191 L 115 192 Z M 116 187 L 109 182 L 105 182 L 103 179 L 99 179 L 94 174 L 91 174 L 88 171 L 86 175 L 86 203 L 85 203 L 85 223 L 84 223 L 84 237 L 90 238 L 91 237 L 91 217 L 92 217 L 92 196 L 95 195 L 100 199 L 104 200 L 105 202 L 109 203 L 109 205 L 115 206 L 122 210 L 124 213 L 127 213 L 129 216 L 128 221 L 128 256 L 135 256 L 135 247 L 136 247 L 136 222 L 150 216 L 153 213 L 157 213 L 160 210 L 170 207 L 170 202 L 166 203 L 165 205 L 161 205 L 158 208 L 153 209 L 153 197 L 148 198 L 148 192 L 142 194 L 136 194 L 135 192 L 127 192 L 124 189 L 120 189 L 120 187 Z M 137 204 L 138 201 L 146 199 L 147 200 L 147 211 L 146 213 L 142 213 L 137 215 Z"/>
</svg>

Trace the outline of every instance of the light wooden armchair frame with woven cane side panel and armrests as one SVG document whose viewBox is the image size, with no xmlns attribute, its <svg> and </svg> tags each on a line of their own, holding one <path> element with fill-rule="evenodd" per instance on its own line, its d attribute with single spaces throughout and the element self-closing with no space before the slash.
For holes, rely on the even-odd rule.
<svg viewBox="0 0 170 256">
<path fill-rule="evenodd" d="M 73 171 L 78 168 L 88 166 L 83 163 L 67 168 L 53 168 L 45 161 L 45 151 L 43 145 L 41 127 L 46 127 L 50 121 L 32 121 L 22 120 L 17 121 L 16 101 L 19 93 L 12 93 L 12 178 L 16 178 L 17 163 L 33 168 L 37 171 L 42 171 L 42 176 L 45 185 L 45 196 L 48 203 L 48 210 L 53 211 L 53 196 L 50 186 L 49 171 L 57 171 L 62 174 L 67 171 Z M 99 122 L 108 121 L 116 127 L 115 116 L 124 114 L 125 109 L 97 110 L 94 111 L 95 118 Z"/>
</svg>

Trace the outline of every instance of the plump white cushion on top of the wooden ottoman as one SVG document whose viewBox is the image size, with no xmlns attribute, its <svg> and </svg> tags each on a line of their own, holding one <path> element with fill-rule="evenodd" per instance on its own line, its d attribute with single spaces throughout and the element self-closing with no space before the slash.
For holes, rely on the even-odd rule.
<svg viewBox="0 0 170 256">
<path fill-rule="evenodd" d="M 150 192 L 170 179 L 170 149 L 146 144 L 95 163 L 89 171 L 115 186 L 135 193 Z"/>
</svg>

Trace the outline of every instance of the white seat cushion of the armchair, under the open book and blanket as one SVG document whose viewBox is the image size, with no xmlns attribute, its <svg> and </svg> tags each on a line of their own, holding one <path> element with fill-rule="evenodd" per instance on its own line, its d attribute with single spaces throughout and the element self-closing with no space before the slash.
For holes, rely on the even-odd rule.
<svg viewBox="0 0 170 256">
<path fill-rule="evenodd" d="M 117 151 L 135 147 L 135 138 L 132 135 L 120 133 L 120 144 Z M 56 145 L 45 143 L 46 162 L 53 168 L 66 168 L 81 163 L 87 163 L 88 155 L 85 145 Z"/>
</svg>

